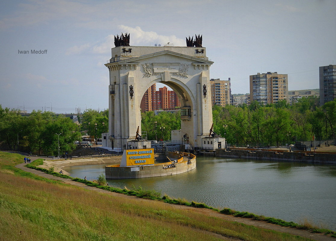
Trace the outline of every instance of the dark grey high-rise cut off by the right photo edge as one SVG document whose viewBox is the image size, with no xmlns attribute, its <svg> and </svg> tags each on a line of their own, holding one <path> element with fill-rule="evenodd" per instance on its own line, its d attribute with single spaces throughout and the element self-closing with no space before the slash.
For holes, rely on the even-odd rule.
<svg viewBox="0 0 336 241">
<path fill-rule="evenodd" d="M 320 105 L 336 98 L 336 65 L 320 67 Z"/>
</svg>

